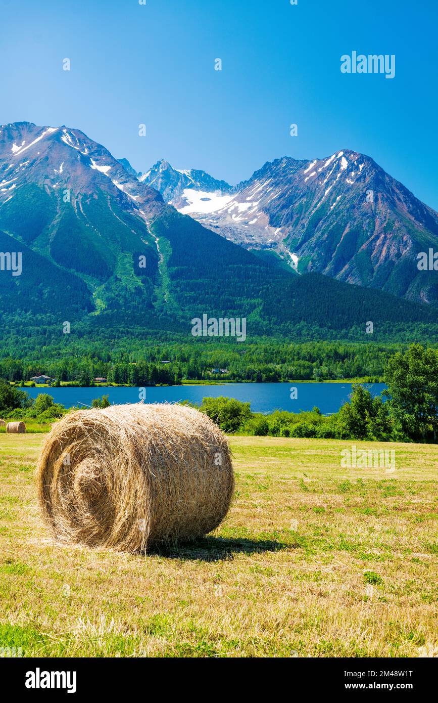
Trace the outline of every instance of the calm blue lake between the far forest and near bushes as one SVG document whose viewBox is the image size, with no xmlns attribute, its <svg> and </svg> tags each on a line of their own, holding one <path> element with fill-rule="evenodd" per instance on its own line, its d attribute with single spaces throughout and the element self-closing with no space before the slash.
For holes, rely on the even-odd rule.
<svg viewBox="0 0 438 703">
<path fill-rule="evenodd" d="M 298 397 L 291 400 L 291 387 L 296 387 Z M 367 384 L 373 395 L 379 395 L 385 384 Z M 93 398 L 102 395 L 110 396 L 110 403 L 138 403 L 140 400 L 138 388 L 26 388 L 32 398 L 39 393 L 50 394 L 55 403 L 62 403 L 67 408 L 72 406 L 91 406 Z M 170 386 L 147 387 L 145 403 L 178 403 L 187 400 L 200 404 L 205 396 L 228 396 L 237 400 L 251 403 L 251 410 L 256 413 L 272 413 L 274 410 L 287 410 L 298 413 L 312 410 L 318 406 L 321 413 L 336 413 L 340 406 L 348 400 L 352 392 L 351 383 L 227 383 L 224 385 L 206 386 Z"/>
</svg>

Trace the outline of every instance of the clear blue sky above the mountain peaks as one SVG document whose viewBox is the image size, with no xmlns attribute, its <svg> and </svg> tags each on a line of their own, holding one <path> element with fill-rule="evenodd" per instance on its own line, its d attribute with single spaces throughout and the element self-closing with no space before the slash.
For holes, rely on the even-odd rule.
<svg viewBox="0 0 438 703">
<path fill-rule="evenodd" d="M 1 123 L 230 183 L 351 148 L 438 209 L 436 0 L 0 0 L 0 17 Z M 353 50 L 395 54 L 394 79 L 341 74 Z"/>
</svg>

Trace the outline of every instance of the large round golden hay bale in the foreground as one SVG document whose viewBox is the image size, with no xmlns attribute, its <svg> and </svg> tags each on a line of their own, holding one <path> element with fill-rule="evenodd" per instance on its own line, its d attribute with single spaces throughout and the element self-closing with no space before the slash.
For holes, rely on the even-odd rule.
<svg viewBox="0 0 438 703">
<path fill-rule="evenodd" d="M 211 532 L 234 491 L 223 432 L 170 404 L 65 415 L 46 437 L 37 477 L 56 538 L 128 552 Z"/>
</svg>

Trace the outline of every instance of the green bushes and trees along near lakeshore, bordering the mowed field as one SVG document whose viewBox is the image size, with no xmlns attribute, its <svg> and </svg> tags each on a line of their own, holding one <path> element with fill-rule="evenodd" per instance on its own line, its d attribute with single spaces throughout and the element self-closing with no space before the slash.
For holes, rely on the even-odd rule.
<svg viewBox="0 0 438 703">
<path fill-rule="evenodd" d="M 385 382 L 387 390 L 376 397 L 364 385 L 354 384 L 350 400 L 333 415 L 322 415 L 317 407 L 300 413 L 277 410 L 264 415 L 251 412 L 249 403 L 224 396 L 206 397 L 199 407 L 192 406 L 206 413 L 227 434 L 437 441 L 438 351 L 413 344 L 404 354 L 397 352 L 387 362 Z M 93 400 L 94 408 L 109 405 L 108 396 Z M 28 431 L 35 431 L 31 426 L 48 430 L 62 415 L 78 409 L 67 410 L 45 393 L 32 400 L 25 391 L 0 380 L 0 416 L 5 420 L 30 422 Z"/>
</svg>

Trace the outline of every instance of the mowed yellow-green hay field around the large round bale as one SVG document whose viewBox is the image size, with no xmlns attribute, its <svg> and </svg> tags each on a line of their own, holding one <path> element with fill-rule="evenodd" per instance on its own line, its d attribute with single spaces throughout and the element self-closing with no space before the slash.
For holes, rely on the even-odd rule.
<svg viewBox="0 0 438 703">
<path fill-rule="evenodd" d="M 212 536 L 133 556 L 56 543 L 42 434 L 0 436 L 0 647 L 23 656 L 438 655 L 438 446 L 343 469 L 348 441 L 231 437 L 237 494 Z"/>
</svg>

